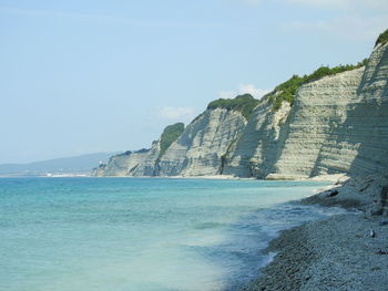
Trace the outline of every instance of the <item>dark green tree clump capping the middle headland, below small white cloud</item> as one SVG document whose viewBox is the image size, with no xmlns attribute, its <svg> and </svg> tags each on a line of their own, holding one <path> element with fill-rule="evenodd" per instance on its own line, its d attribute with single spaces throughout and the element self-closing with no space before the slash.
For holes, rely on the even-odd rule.
<svg viewBox="0 0 388 291">
<path fill-rule="evenodd" d="M 218 98 L 207 105 L 207 110 L 225 108 L 228 111 L 238 111 L 248 119 L 253 110 L 258 104 L 251 94 L 238 95 L 235 98 Z"/>
</svg>

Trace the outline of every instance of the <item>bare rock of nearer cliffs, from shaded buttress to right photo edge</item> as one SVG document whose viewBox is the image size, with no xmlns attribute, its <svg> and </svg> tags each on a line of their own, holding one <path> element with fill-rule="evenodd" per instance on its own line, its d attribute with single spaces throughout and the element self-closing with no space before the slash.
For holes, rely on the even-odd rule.
<svg viewBox="0 0 388 291">
<path fill-rule="evenodd" d="M 293 107 L 258 105 L 224 174 L 295 179 L 364 175 L 388 167 L 388 46 L 367 67 L 326 76 L 297 91 Z"/>
</svg>

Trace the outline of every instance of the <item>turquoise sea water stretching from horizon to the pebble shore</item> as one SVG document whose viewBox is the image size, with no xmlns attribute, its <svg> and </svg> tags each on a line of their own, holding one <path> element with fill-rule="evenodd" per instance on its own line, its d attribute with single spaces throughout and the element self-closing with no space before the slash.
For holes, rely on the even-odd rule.
<svg viewBox="0 0 388 291">
<path fill-rule="evenodd" d="M 235 290 L 327 184 L 0 178 L 0 290 Z"/>
</svg>

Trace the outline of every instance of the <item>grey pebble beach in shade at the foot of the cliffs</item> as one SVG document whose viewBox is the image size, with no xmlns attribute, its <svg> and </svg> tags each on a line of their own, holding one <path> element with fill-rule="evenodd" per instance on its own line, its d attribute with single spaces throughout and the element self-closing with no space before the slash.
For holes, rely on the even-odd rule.
<svg viewBox="0 0 388 291">
<path fill-rule="evenodd" d="M 339 179 L 302 204 L 341 206 L 345 215 L 284 230 L 274 260 L 245 285 L 256 290 L 384 290 L 388 285 L 388 180 Z"/>
</svg>

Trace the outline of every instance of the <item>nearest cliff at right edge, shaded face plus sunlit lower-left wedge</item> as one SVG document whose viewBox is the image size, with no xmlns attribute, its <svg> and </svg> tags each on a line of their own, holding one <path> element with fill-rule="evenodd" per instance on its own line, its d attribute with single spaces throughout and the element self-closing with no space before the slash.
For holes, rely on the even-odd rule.
<svg viewBox="0 0 388 291">
<path fill-rule="evenodd" d="M 388 44 L 375 48 L 343 123 L 325 143 L 317 173 L 384 174 L 388 168 Z M 336 145 L 336 146 L 331 146 Z"/>
</svg>

